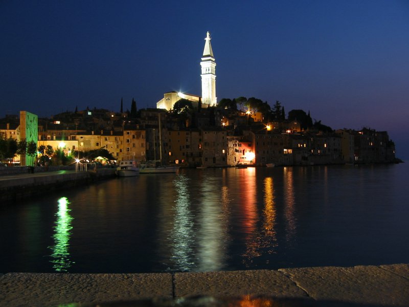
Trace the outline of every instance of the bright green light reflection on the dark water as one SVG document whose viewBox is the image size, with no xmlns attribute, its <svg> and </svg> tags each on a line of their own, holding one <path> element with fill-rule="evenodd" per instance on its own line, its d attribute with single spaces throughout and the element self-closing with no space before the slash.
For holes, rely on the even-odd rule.
<svg viewBox="0 0 409 307">
<path fill-rule="evenodd" d="M 57 221 L 54 223 L 54 246 L 49 247 L 53 253 L 51 256 L 53 268 L 57 272 L 67 272 L 67 270 L 74 263 L 70 260 L 70 236 L 71 236 L 71 222 L 73 217 L 70 215 L 68 205 L 70 202 L 67 198 L 62 197 L 58 200 L 58 211 L 55 213 Z"/>
</svg>

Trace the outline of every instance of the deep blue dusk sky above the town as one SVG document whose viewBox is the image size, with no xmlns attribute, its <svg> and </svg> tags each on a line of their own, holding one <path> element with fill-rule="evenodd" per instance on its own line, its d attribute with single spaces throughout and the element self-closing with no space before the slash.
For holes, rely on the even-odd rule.
<svg viewBox="0 0 409 307">
<path fill-rule="evenodd" d="M 219 100 L 387 130 L 409 159 L 409 1 L 1 0 L 0 29 L 1 117 L 201 95 L 209 31 Z"/>
</svg>

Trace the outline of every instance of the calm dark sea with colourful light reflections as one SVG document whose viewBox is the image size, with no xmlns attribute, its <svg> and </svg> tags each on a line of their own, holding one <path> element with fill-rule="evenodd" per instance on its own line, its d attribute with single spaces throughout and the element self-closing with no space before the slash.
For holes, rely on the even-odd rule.
<svg viewBox="0 0 409 307">
<path fill-rule="evenodd" d="M 0 272 L 409 263 L 409 163 L 183 169 L 0 209 Z"/>
</svg>

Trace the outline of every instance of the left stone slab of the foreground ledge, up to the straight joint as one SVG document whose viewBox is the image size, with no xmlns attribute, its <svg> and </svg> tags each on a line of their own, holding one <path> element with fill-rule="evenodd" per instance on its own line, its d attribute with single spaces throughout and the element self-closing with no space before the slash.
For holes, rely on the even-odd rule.
<svg viewBox="0 0 409 307">
<path fill-rule="evenodd" d="M 172 298 L 172 274 L 8 273 L 0 277 L 1 306 L 58 306 Z"/>
</svg>

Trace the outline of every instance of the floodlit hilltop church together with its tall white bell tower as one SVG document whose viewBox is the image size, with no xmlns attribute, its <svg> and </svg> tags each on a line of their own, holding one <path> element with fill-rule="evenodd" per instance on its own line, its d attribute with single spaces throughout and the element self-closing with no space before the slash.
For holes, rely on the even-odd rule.
<svg viewBox="0 0 409 307">
<path fill-rule="evenodd" d="M 187 99 L 192 101 L 193 106 L 197 106 L 201 100 L 202 107 L 215 106 L 217 104 L 216 97 L 216 61 L 213 55 L 212 45 L 210 43 L 210 33 L 207 32 L 205 49 L 201 58 L 201 97 L 185 93 L 169 92 L 165 93 L 164 97 L 156 103 L 156 108 L 173 109 L 173 105 L 179 99 Z"/>
</svg>

